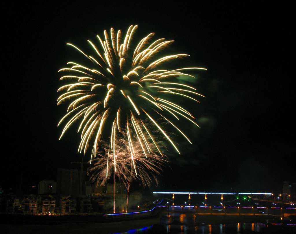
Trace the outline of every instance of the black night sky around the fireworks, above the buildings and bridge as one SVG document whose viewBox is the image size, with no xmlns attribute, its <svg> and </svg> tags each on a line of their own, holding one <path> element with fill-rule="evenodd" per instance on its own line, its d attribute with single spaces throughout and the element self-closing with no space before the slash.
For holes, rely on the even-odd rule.
<svg viewBox="0 0 296 234">
<path fill-rule="evenodd" d="M 55 179 L 58 167 L 80 161 L 74 130 L 58 140 L 66 110 L 56 105 L 57 71 L 73 55 L 66 43 L 86 48 L 105 29 L 131 24 L 139 39 L 175 40 L 172 51 L 191 55 L 182 65 L 208 69 L 194 84 L 206 96 L 192 108 L 200 128 L 184 126 L 193 144 L 169 156 L 159 189 L 274 192 L 296 181 L 292 6 L 29 1 L 6 14 L 0 185 L 18 185 L 20 174 L 24 183 Z"/>
</svg>

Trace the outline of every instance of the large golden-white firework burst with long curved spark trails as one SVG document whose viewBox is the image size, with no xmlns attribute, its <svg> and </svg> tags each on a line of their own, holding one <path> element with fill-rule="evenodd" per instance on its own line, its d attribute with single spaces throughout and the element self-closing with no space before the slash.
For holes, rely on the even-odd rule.
<svg viewBox="0 0 296 234">
<path fill-rule="evenodd" d="M 115 152 L 118 151 L 115 138 L 121 138 L 123 135 L 126 136 L 125 141 L 131 149 L 133 144 L 139 143 L 141 152 L 147 155 L 151 150 L 149 142 L 152 142 L 153 148 L 158 149 L 162 155 L 154 134 L 149 133 L 147 126 L 141 122 L 144 119 L 151 120 L 150 123 L 155 129 L 159 129 L 180 153 L 157 120 L 166 120 L 189 141 L 177 127 L 176 121 L 185 119 L 197 124 L 186 109 L 171 99 L 187 98 L 198 102 L 196 97 L 192 96 L 202 96 L 195 92 L 195 88 L 178 83 L 177 80 L 179 76 L 193 77 L 183 71 L 205 68 L 163 69 L 173 60 L 189 55 L 176 54 L 159 58 L 159 53 L 173 41 L 165 41 L 164 38 L 152 41 L 154 33 L 144 37 L 133 49 L 132 40 L 136 29 L 137 25 L 131 25 L 123 37 L 120 30 L 116 34 L 111 28 L 110 34 L 105 30 L 104 37 L 97 36 L 96 43 L 88 40 L 94 49 L 93 55 L 87 55 L 75 45 L 67 43 L 78 50 L 83 55 L 83 63 L 89 65 L 68 62 L 69 67 L 59 70 L 67 73 L 60 80 L 70 81 L 58 89 L 63 92 L 57 100 L 58 104 L 70 102 L 68 113 L 59 122 L 60 125 L 66 121 L 60 138 L 71 125 L 80 122 L 78 132 L 81 132 L 81 142 L 78 152 L 85 154 L 92 148 L 91 159 L 99 153 L 101 140 L 109 138 L 109 154 L 112 154 L 115 170 L 118 169 L 120 161 L 115 157 Z M 131 135 L 128 126 L 134 135 Z M 148 138 L 145 135 L 148 135 Z M 133 150 L 130 150 L 130 153 L 134 163 L 133 157 L 136 155 Z M 109 154 L 108 161 L 111 160 Z M 136 172 L 136 166 L 134 171 Z"/>
</svg>

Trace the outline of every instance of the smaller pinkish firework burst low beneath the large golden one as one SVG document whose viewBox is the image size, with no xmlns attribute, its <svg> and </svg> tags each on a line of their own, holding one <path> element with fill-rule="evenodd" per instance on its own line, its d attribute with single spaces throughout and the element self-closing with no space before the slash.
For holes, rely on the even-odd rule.
<svg viewBox="0 0 296 234">
<path fill-rule="evenodd" d="M 88 170 L 90 180 L 97 186 L 107 184 L 112 175 L 115 175 L 128 188 L 131 181 L 140 180 L 150 186 L 152 182 L 158 183 L 157 175 L 162 172 L 162 167 L 167 162 L 164 155 L 159 155 L 158 150 L 153 150 L 153 143 L 148 143 L 151 149 L 144 153 L 138 141 L 130 144 L 126 137 L 116 140 L 116 151 L 110 153 L 110 145 L 104 144 L 104 151 L 93 159 Z"/>
</svg>

